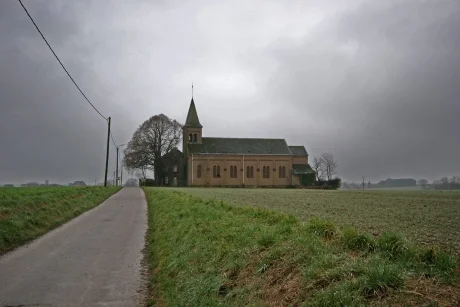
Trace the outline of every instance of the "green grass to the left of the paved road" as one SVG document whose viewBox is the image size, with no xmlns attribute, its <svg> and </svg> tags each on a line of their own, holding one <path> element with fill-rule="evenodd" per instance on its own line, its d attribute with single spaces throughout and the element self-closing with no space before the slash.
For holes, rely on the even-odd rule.
<svg viewBox="0 0 460 307">
<path fill-rule="evenodd" d="M 119 189 L 0 188 L 0 254 L 95 207 Z"/>
</svg>

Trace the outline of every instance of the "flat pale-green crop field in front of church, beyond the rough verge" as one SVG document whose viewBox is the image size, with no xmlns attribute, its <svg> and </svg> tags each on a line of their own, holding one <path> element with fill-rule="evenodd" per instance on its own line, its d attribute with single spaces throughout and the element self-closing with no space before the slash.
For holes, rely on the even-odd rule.
<svg viewBox="0 0 460 307">
<path fill-rule="evenodd" d="M 297 189 L 177 189 L 233 205 L 320 217 L 370 235 L 396 231 L 420 244 L 460 251 L 460 192 L 324 191 Z"/>
</svg>

